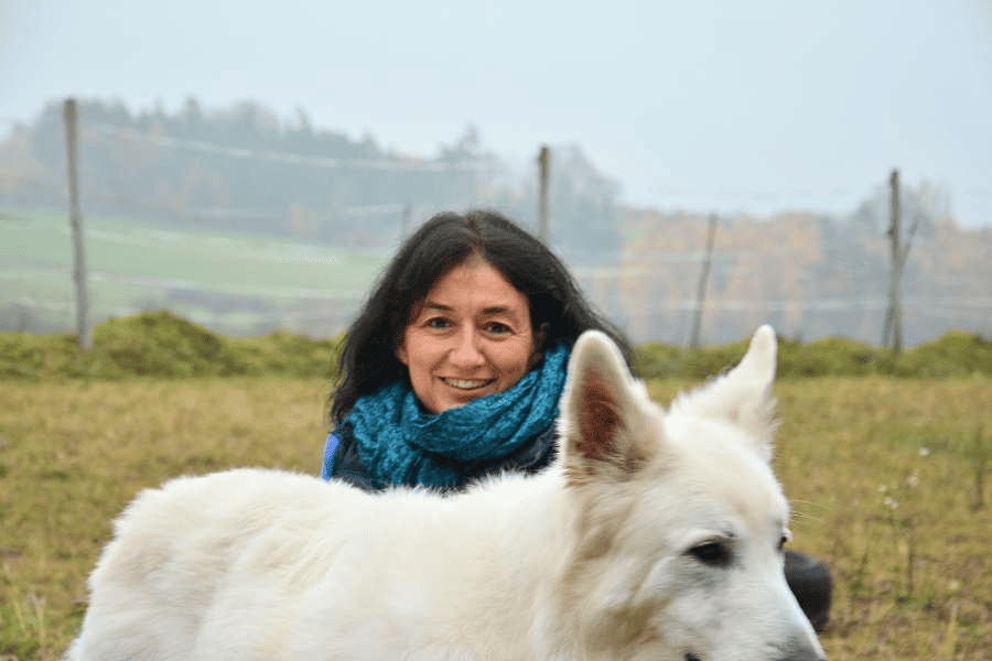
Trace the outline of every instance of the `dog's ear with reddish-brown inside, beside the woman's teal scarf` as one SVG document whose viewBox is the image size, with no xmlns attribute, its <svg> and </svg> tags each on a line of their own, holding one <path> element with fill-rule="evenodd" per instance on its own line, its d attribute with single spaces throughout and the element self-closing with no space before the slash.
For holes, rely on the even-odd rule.
<svg viewBox="0 0 992 661">
<path fill-rule="evenodd" d="M 637 400 L 647 400 L 619 349 L 599 330 L 579 337 L 561 398 L 559 435 L 573 484 L 593 476 L 625 480 L 653 454 Z"/>
</svg>

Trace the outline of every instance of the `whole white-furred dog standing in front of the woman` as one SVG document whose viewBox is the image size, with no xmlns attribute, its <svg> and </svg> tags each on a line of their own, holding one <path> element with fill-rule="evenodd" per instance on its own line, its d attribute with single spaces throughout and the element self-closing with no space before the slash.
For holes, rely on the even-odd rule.
<svg viewBox="0 0 992 661">
<path fill-rule="evenodd" d="M 116 522 L 77 661 L 820 660 L 783 574 L 775 335 L 666 412 L 584 334 L 547 472 L 370 495 L 179 478 Z"/>
</svg>

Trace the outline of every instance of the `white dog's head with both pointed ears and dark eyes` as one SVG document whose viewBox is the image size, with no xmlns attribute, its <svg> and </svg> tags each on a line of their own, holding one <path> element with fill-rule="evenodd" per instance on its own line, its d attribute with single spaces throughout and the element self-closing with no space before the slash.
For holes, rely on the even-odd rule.
<svg viewBox="0 0 992 661">
<path fill-rule="evenodd" d="M 590 658 L 823 659 L 783 572 L 776 348 L 763 326 L 736 368 L 665 411 L 605 335 L 579 338 L 560 432 L 581 517 L 559 603 Z"/>
</svg>

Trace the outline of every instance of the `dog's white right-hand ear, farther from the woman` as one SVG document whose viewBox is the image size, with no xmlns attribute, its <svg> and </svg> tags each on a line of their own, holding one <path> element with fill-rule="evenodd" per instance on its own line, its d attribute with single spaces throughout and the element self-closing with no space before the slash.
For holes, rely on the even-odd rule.
<svg viewBox="0 0 992 661">
<path fill-rule="evenodd" d="M 733 422 L 755 440 L 755 449 L 770 460 L 776 426 L 772 386 L 777 350 L 775 330 L 762 326 L 735 368 L 699 390 L 680 395 L 671 410 Z"/>
</svg>

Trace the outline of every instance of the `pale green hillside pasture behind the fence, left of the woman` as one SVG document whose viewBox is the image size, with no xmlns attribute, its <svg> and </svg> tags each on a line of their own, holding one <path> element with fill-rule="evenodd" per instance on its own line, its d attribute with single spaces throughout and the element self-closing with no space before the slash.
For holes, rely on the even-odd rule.
<svg viewBox="0 0 992 661">
<path fill-rule="evenodd" d="M 134 218 L 87 216 L 86 260 L 95 318 L 121 310 L 208 308 L 194 293 L 250 300 L 273 310 L 306 299 L 365 294 L 388 257 L 214 229 L 164 228 Z M 66 214 L 0 209 L 0 301 L 72 308 L 73 247 Z M 177 300 L 176 296 L 181 299 Z"/>
</svg>

